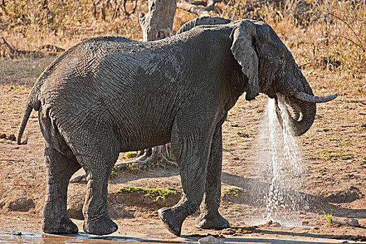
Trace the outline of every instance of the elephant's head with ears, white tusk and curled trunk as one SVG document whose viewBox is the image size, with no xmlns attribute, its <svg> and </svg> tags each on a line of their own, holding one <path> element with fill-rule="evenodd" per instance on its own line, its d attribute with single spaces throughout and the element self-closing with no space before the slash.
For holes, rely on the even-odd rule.
<svg viewBox="0 0 366 244">
<path fill-rule="evenodd" d="M 231 22 L 220 17 L 201 17 L 184 24 L 178 33 L 199 25 L 210 27 L 218 24 L 232 28 L 231 53 L 248 80 L 245 99 L 253 100 L 259 92 L 265 93 L 270 98 L 275 98 L 278 115 L 276 93 L 281 93 L 292 110 L 289 121 L 293 134 L 299 136 L 307 132 L 314 122 L 317 102 L 333 100 L 338 93 L 326 97 L 314 96 L 289 49 L 264 22 Z M 280 119 L 280 116 L 277 117 Z"/>
</svg>

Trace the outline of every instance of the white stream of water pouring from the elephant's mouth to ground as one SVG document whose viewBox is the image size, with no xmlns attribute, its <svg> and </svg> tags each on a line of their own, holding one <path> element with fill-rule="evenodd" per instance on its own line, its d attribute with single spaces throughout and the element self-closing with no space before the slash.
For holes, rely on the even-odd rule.
<svg viewBox="0 0 366 244">
<path fill-rule="evenodd" d="M 275 100 L 269 99 L 259 128 L 259 173 L 261 181 L 266 183 L 265 188 L 259 189 L 266 207 L 263 219 L 298 226 L 298 213 L 308 208 L 307 199 L 301 193 L 303 160 L 289 124 L 288 111 L 284 108 L 284 97 L 278 97 L 278 106 L 282 126 L 275 112 Z"/>
</svg>

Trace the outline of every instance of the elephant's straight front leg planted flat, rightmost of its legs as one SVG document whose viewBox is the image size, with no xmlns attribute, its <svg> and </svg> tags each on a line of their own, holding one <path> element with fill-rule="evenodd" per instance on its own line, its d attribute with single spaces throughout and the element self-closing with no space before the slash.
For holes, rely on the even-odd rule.
<svg viewBox="0 0 366 244">
<path fill-rule="evenodd" d="M 196 227 L 202 229 L 224 229 L 229 222 L 220 215 L 218 208 L 221 200 L 222 169 L 222 133 L 221 125 L 213 135 L 210 159 L 206 177 L 204 202 L 201 204 L 201 215 L 196 220 Z"/>
</svg>

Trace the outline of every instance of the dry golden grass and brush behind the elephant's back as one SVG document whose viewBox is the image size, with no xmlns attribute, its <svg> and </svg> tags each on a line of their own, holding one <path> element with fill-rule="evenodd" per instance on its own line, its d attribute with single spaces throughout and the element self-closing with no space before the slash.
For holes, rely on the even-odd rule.
<svg viewBox="0 0 366 244">
<path fill-rule="evenodd" d="M 1 0 L 0 36 L 18 49 L 69 48 L 92 36 L 142 40 L 144 0 Z M 366 70 L 366 1 L 226 0 L 211 15 L 252 18 L 273 26 L 302 67 Z M 196 17 L 177 9 L 174 31 Z M 2 45 L 1 56 L 8 57 Z"/>
</svg>

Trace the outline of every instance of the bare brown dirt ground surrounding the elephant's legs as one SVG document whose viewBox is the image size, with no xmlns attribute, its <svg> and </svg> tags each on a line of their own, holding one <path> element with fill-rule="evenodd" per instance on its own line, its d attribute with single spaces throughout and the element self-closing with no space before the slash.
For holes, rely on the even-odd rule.
<svg viewBox="0 0 366 244">
<path fill-rule="evenodd" d="M 50 61 L 52 58 L 0 60 L 0 137 L 5 137 L 0 139 L 0 229 L 41 232 L 46 167 L 38 114 L 32 112 L 26 126 L 28 144 L 18 146 L 10 135 L 17 136 L 31 86 Z M 257 201 L 259 196 L 253 185 L 268 187 L 268 181 L 259 177 L 262 166 L 257 160 L 259 122 L 268 99 L 264 95 L 252 102 L 241 98 L 223 125 L 220 212 L 233 228 L 196 229 L 198 213 L 195 213 L 184 222 L 183 235 L 366 241 L 366 75 L 331 70 L 304 70 L 303 73 L 315 94 L 340 92 L 336 100 L 318 105 L 314 125 L 296 139 L 306 171 L 297 191 L 306 196 L 309 207 L 289 215 L 288 218 L 293 218 L 292 226 L 265 224 L 262 216 L 266 214 L 266 205 Z M 119 162 L 126 160 L 121 154 Z M 178 193 L 160 201 L 145 201 L 144 195 L 113 193 L 126 185 L 172 187 Z M 230 195 L 225 191 L 231 187 L 242 190 L 238 196 Z M 137 173 L 117 174 L 109 182 L 109 213 L 119 225 L 119 230 L 112 235 L 172 238 L 160 222 L 157 210 L 174 204 L 180 191 L 176 167 L 150 167 Z M 70 184 L 68 190 L 69 213 L 80 231 L 85 192 L 84 182 Z M 333 213 L 333 220 L 356 219 L 361 227 L 329 225 L 321 211 Z M 247 228 L 248 225 L 251 227 Z"/>
</svg>

